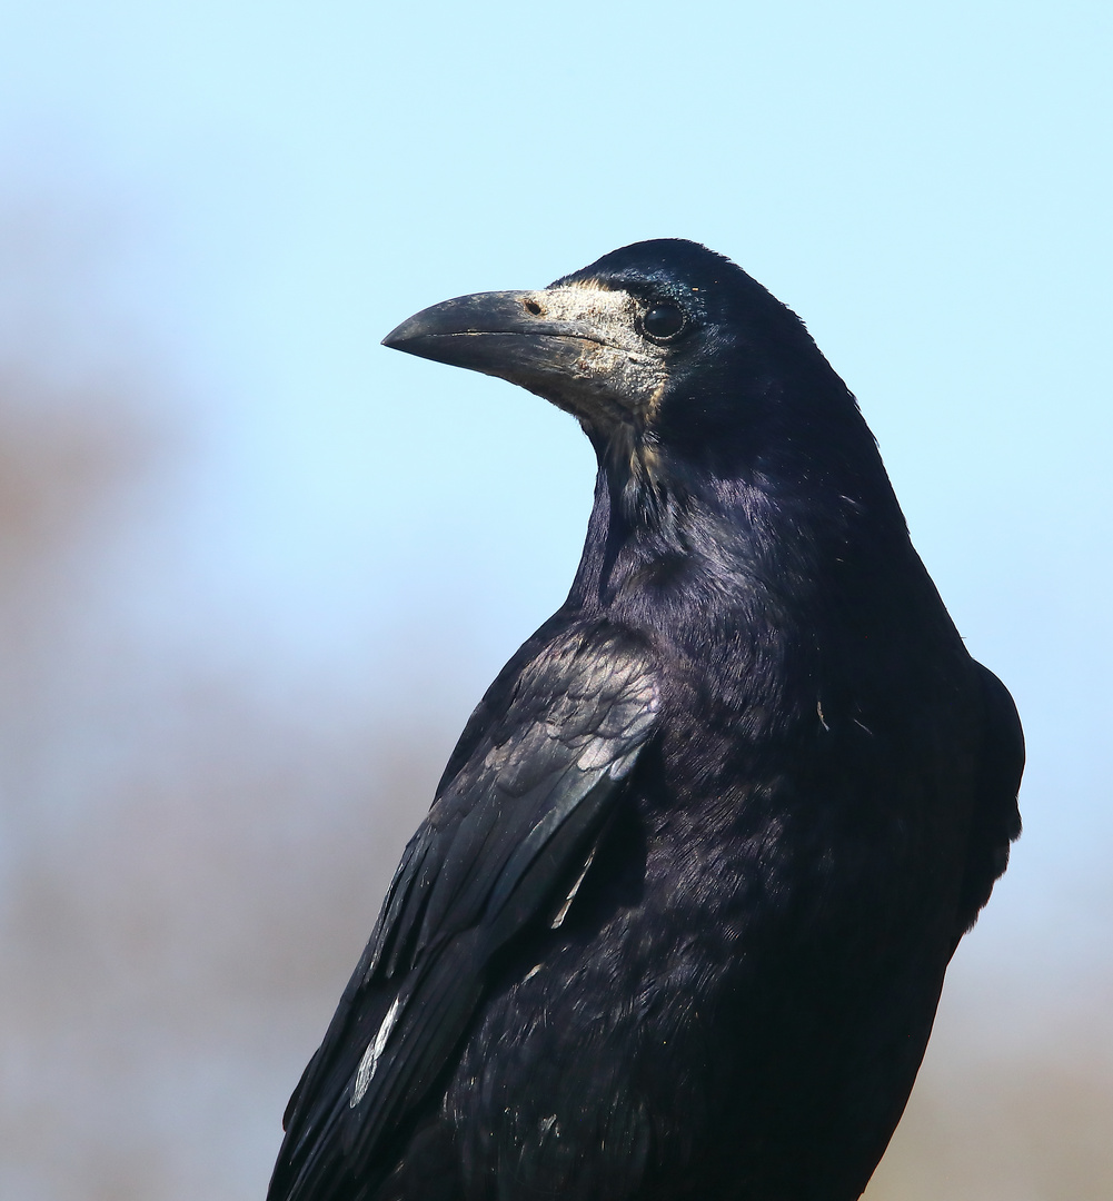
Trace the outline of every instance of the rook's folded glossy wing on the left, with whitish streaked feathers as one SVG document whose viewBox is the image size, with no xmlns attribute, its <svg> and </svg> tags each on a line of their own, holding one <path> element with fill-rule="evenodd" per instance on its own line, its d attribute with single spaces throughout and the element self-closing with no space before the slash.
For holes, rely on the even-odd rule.
<svg viewBox="0 0 1113 1201">
<path fill-rule="evenodd" d="M 270 1201 L 339 1201 L 391 1169 L 385 1148 L 451 1063 L 492 956 L 563 919 L 652 737 L 644 644 L 594 625 L 526 645 L 468 723 L 468 753 L 453 755 L 291 1098 Z"/>
</svg>

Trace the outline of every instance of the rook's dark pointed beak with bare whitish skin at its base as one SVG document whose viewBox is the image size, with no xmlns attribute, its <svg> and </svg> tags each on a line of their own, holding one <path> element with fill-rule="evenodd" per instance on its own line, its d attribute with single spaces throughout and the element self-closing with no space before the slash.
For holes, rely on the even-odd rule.
<svg viewBox="0 0 1113 1201">
<path fill-rule="evenodd" d="M 640 407 L 642 389 L 624 386 L 644 358 L 632 304 L 628 293 L 599 287 L 478 292 L 423 309 L 383 345 L 508 380 L 606 430 Z"/>
</svg>

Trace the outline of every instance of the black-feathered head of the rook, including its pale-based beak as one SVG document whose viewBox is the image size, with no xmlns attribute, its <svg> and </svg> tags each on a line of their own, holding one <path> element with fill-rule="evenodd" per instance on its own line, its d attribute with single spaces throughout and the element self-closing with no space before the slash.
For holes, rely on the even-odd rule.
<svg viewBox="0 0 1113 1201">
<path fill-rule="evenodd" d="M 635 243 L 546 288 L 445 300 L 383 345 L 520 384 L 623 452 L 752 452 L 754 435 L 816 390 L 833 384 L 843 407 L 849 396 L 795 313 L 681 239 Z"/>
</svg>

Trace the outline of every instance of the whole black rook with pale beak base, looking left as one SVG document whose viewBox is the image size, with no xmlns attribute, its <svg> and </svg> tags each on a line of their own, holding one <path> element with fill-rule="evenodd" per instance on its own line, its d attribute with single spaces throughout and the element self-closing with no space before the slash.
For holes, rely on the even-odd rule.
<svg viewBox="0 0 1113 1201">
<path fill-rule="evenodd" d="M 406 848 L 270 1201 L 851 1201 L 1023 766 L 854 396 L 680 240 L 385 345 L 574 414 L 596 500 Z"/>
</svg>

